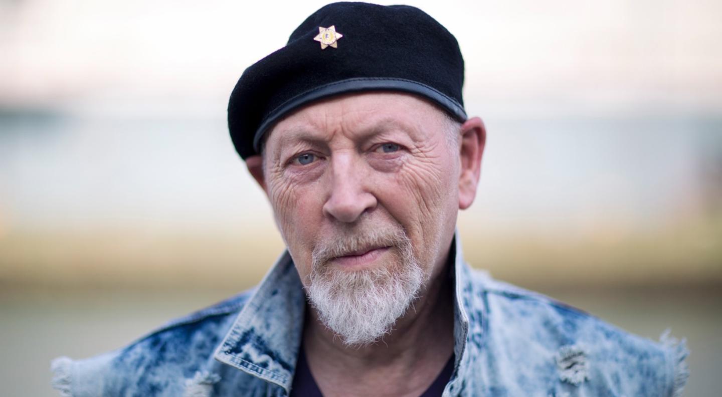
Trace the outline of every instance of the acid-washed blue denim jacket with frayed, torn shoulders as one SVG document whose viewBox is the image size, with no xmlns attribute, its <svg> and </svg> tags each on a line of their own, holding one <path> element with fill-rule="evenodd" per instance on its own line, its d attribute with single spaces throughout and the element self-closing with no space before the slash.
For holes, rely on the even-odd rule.
<svg viewBox="0 0 722 397">
<path fill-rule="evenodd" d="M 681 396 L 684 341 L 631 335 L 472 270 L 458 233 L 454 354 L 443 396 Z M 287 396 L 305 295 L 286 252 L 255 289 L 97 357 L 52 363 L 63 396 Z"/>
</svg>

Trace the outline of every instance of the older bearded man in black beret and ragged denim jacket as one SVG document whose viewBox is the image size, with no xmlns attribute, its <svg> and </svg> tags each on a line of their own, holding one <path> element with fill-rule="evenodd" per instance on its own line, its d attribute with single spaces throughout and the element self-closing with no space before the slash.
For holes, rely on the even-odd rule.
<svg viewBox="0 0 722 397">
<path fill-rule="evenodd" d="M 678 396 L 683 344 L 632 336 L 464 262 L 486 131 L 453 35 L 336 3 L 246 69 L 233 143 L 287 253 L 263 282 L 116 352 L 66 396 Z"/>
</svg>

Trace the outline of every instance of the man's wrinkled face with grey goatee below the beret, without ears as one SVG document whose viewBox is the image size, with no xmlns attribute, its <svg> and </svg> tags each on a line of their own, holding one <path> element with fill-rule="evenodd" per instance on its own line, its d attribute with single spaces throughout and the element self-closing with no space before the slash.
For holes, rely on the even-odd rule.
<svg viewBox="0 0 722 397">
<path fill-rule="evenodd" d="M 393 325 L 438 276 L 459 206 L 451 129 L 425 100 L 377 92 L 316 102 L 269 132 L 266 193 L 312 304 L 316 282 L 331 300 L 359 289 L 351 304 L 368 311 L 385 299 L 365 298 L 377 289 L 409 289 L 390 297 L 407 300 L 388 309 Z"/>
</svg>

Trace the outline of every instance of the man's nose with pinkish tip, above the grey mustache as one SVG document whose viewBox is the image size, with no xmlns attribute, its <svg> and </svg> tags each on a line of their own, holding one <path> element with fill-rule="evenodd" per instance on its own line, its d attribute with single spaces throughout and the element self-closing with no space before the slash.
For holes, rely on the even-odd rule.
<svg viewBox="0 0 722 397">
<path fill-rule="evenodd" d="M 374 209 L 376 197 L 368 190 L 365 168 L 355 165 L 351 154 L 331 160 L 331 193 L 323 204 L 323 214 L 339 222 L 356 222 L 365 211 Z"/>
</svg>

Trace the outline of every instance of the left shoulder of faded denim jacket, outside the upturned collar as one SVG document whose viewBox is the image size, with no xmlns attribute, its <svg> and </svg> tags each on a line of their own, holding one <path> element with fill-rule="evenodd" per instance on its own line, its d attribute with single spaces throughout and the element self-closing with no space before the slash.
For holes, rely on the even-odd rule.
<svg viewBox="0 0 722 397">
<path fill-rule="evenodd" d="M 51 363 L 53 387 L 61 396 L 211 396 L 220 378 L 208 371 L 209 359 L 253 292 L 171 320 L 121 349 L 58 357 Z"/>
</svg>

